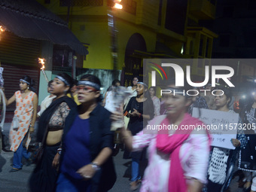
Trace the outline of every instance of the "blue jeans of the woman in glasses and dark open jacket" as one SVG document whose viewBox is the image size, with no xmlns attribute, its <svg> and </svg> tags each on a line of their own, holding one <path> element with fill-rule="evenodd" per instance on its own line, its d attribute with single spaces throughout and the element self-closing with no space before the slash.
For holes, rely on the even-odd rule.
<svg viewBox="0 0 256 192">
<path fill-rule="evenodd" d="M 90 181 L 78 180 L 59 173 L 56 192 L 90 192 Z"/>
</svg>

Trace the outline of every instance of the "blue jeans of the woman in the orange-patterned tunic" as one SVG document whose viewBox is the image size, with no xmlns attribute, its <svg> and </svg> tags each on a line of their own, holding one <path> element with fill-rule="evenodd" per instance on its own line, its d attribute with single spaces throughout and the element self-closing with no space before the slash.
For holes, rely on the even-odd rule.
<svg viewBox="0 0 256 192">
<path fill-rule="evenodd" d="M 23 141 L 21 141 L 19 148 L 17 148 L 17 151 L 14 152 L 13 167 L 21 169 L 23 167 L 23 163 L 21 163 L 21 160 L 23 159 L 23 157 L 25 157 L 25 159 L 28 160 L 30 154 L 31 153 L 28 152 L 26 148 L 23 148 Z"/>
</svg>

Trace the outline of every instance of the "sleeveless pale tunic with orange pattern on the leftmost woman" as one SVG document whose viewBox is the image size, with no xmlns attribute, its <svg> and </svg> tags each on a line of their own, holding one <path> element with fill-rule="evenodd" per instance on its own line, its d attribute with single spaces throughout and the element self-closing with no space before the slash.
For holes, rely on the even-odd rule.
<svg viewBox="0 0 256 192">
<path fill-rule="evenodd" d="M 33 99 L 35 96 L 34 92 L 30 92 L 24 99 L 21 97 L 20 90 L 14 93 L 16 98 L 16 110 L 14 111 L 14 117 L 19 120 L 19 127 L 14 129 L 14 122 L 11 123 L 11 130 L 9 134 L 9 140 L 11 143 L 11 151 L 17 151 L 20 146 L 20 142 L 23 141 L 26 133 L 28 133 L 29 125 L 32 120 Z M 26 148 L 29 147 L 29 142 L 31 141 L 30 134 L 28 133 L 26 140 Z"/>
</svg>

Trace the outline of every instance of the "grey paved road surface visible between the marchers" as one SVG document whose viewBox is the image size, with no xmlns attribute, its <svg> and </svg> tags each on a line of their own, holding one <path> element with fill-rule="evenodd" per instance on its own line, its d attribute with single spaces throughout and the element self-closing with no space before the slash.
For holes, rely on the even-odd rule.
<svg viewBox="0 0 256 192">
<path fill-rule="evenodd" d="M 5 133 L 8 133 L 10 123 L 5 123 Z M 114 157 L 115 168 L 117 172 L 117 182 L 110 192 L 130 192 L 130 160 L 122 159 L 123 152 L 120 151 Z M 28 192 L 27 181 L 29 175 L 35 165 L 23 166 L 19 172 L 9 172 L 11 169 L 13 152 L 4 152 L 0 154 L 0 191 L 1 192 Z M 230 184 L 231 192 L 242 192 L 242 189 L 237 188 L 237 179 L 233 179 Z M 136 190 L 139 191 L 139 190 Z M 216 191 L 217 192 L 217 191 Z"/>
</svg>

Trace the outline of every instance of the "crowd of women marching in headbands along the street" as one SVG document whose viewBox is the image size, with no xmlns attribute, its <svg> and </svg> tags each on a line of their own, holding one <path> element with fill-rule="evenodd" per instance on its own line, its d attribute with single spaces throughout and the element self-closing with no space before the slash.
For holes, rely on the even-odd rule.
<svg viewBox="0 0 256 192">
<path fill-rule="evenodd" d="M 132 86 L 126 88 L 130 96 L 117 108 L 114 94 L 119 80 L 112 82 L 103 97 L 96 76 L 83 75 L 75 81 L 59 73 L 49 82 L 50 95 L 38 111 L 33 84 L 32 78 L 24 76 L 20 78 L 20 90 L 5 98 L 6 105 L 16 102 L 9 134 L 10 150 L 14 151 L 10 172 L 23 168 L 23 157 L 27 165 L 32 163 L 28 148 L 38 117 L 36 136 L 40 146 L 28 182 L 30 191 L 110 190 L 117 180 L 111 123 L 120 120 L 123 123 L 117 128 L 125 146 L 123 158 L 131 159 L 130 190 L 137 190 L 141 184 L 142 192 L 224 192 L 234 173 L 242 172 L 244 191 L 256 191 L 255 129 L 238 129 L 230 140 L 230 149 L 212 145 L 210 131 L 200 130 L 203 121 L 193 117 L 200 108 L 215 110 L 216 114 L 236 114 L 229 88 L 221 88 L 224 94 L 216 90 L 216 96 L 211 92 L 191 95 L 186 92 L 191 87 L 176 87 L 172 79 L 164 85 L 170 92 L 158 98 L 158 87 L 148 87 L 134 77 Z M 212 90 L 211 84 L 206 89 Z M 255 126 L 255 109 L 256 94 L 251 95 L 233 123 Z M 177 129 L 148 130 L 148 126 L 170 125 Z M 194 128 L 184 130 L 182 126 Z M 140 172 L 142 160 L 148 161 L 144 172 Z"/>
</svg>

